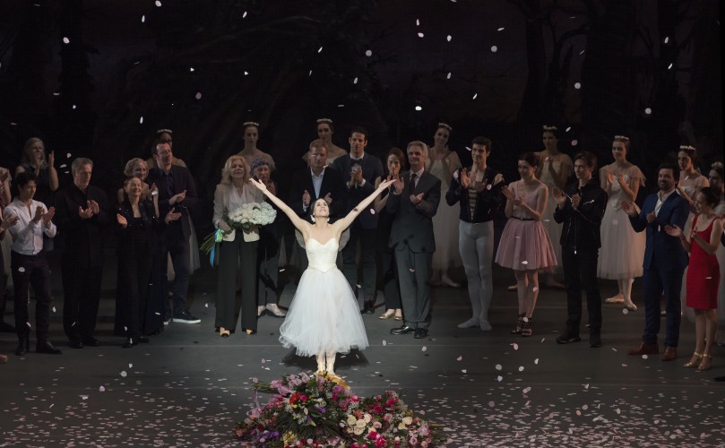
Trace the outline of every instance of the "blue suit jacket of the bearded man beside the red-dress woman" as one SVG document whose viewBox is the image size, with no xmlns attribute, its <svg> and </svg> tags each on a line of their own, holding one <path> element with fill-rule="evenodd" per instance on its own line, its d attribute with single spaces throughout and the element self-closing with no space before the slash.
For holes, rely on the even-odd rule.
<svg viewBox="0 0 725 448">
<path fill-rule="evenodd" d="M 670 194 L 667 200 L 662 204 L 657 219 L 650 224 L 647 222 L 647 215 L 654 211 L 657 205 L 657 194 L 650 194 L 644 200 L 642 210 L 636 217 L 629 217 L 634 231 L 641 232 L 647 230 L 647 246 L 644 249 L 643 267 L 649 269 L 652 262 L 656 258 L 657 266 L 665 271 L 685 270 L 688 262 L 685 248 L 679 242 L 678 237 L 670 237 L 665 232 L 665 226 L 675 226 L 685 228 L 687 215 L 690 213 L 689 203 L 682 198 L 677 192 Z"/>
</svg>

